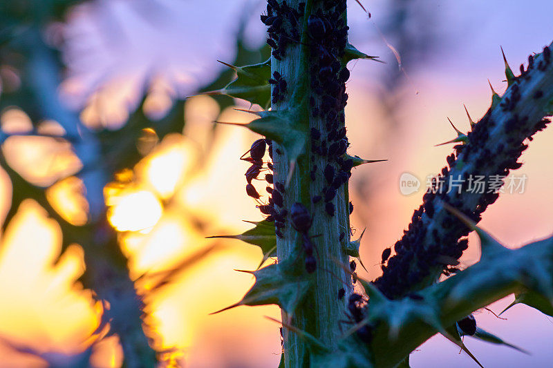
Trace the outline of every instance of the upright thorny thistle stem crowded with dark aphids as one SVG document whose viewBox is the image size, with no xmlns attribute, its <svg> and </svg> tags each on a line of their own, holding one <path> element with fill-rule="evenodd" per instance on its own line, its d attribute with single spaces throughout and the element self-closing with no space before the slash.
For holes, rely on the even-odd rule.
<svg viewBox="0 0 553 368">
<path fill-rule="evenodd" d="M 269 1 L 270 4 L 274 3 Z M 290 8 L 301 12 L 304 3 L 299 0 L 288 1 Z M 283 10 L 275 10 L 272 7 L 272 15 L 285 19 L 287 14 Z M 332 166 L 335 173 L 343 171 L 344 163 L 337 161 L 337 155 L 328 154 L 328 148 L 335 143 L 328 139 L 328 135 L 335 134 L 340 128 L 344 128 L 344 90 L 337 88 L 330 92 L 328 89 L 319 88 L 319 93 L 313 88 L 317 83 L 321 83 L 321 68 L 325 65 L 321 63 L 320 58 L 328 56 L 328 64 L 334 63 L 331 75 L 328 81 L 338 83 L 344 86 L 344 81 L 339 81 L 339 70 L 342 70 L 339 64 L 340 55 L 333 53 L 343 52 L 345 43 L 337 46 L 339 41 L 345 41 L 344 37 L 336 41 L 335 35 L 337 28 L 326 29 L 324 37 L 314 39 L 308 31 L 308 17 L 310 14 L 317 14 L 317 19 L 332 19 L 331 12 L 339 12 L 340 19 L 344 19 L 346 3 L 340 1 L 321 1 L 308 0 L 305 3 L 305 14 L 303 15 L 301 30 L 301 42 L 290 42 L 284 48 L 279 45 L 277 52 L 285 49 L 283 55 L 274 56 L 271 59 L 272 72 L 277 71 L 288 84 L 288 93 L 283 98 L 275 98 L 279 91 L 273 87 L 272 110 L 294 110 L 296 112 L 294 124 L 303 126 L 307 132 L 317 130 L 321 137 L 311 139 L 307 135 L 305 142 L 305 153 L 300 155 L 297 163 L 290 164 L 290 159 L 285 155 L 283 148 L 274 144 L 274 180 L 275 182 L 285 183 L 293 170 L 290 182 L 285 190 L 284 208 L 290 211 L 292 204 L 301 202 L 306 206 L 312 217 L 312 226 L 309 231 L 312 242 L 315 244 L 315 258 L 317 259 L 317 269 L 312 275 L 312 289 L 306 296 L 303 303 L 299 305 L 293 316 L 288 316 L 284 311 L 283 320 L 290 321 L 295 327 L 308 331 L 313 336 L 319 338 L 328 347 L 335 347 L 338 337 L 341 335 L 341 326 L 339 320 L 344 320 L 345 302 L 348 295 L 352 292 L 351 278 L 341 267 L 341 264 L 348 264 L 349 257 L 344 251 L 344 244 L 350 240 L 349 231 L 349 204 L 348 188 L 346 184 L 341 184 L 337 188 L 337 195 L 334 198 L 325 200 L 324 188 L 330 187 L 330 183 L 325 179 L 324 169 L 327 165 Z M 343 11 L 341 11 L 343 10 Z M 268 15 L 271 15 L 268 14 Z M 285 23 L 288 25 L 288 23 Z M 326 24 L 328 28 L 329 24 Z M 337 26 L 337 19 L 335 24 Z M 343 27 L 342 27 L 343 28 Z M 290 28 L 283 27 L 279 32 L 290 32 Z M 315 35 L 319 37 L 319 35 Z M 290 37 L 293 38 L 293 37 Z M 341 50 L 339 50 L 341 48 Z M 336 63 L 338 63 L 336 65 Z M 317 82 L 316 82 L 317 81 Z M 324 101 L 326 99 L 326 101 Z M 328 101 L 335 102 L 337 107 L 328 106 Z M 343 101 L 343 103 L 342 103 Z M 315 113 L 314 111 L 319 111 Z M 327 114 L 328 113 L 328 114 Z M 330 116 L 332 115 L 332 116 Z M 321 141 L 326 141 L 324 151 L 321 153 Z M 337 142 L 336 142 L 337 143 Z M 335 146 L 333 146 L 333 149 Z M 346 170 L 349 173 L 349 170 Z M 313 198 L 321 195 L 317 203 L 313 203 Z M 335 209 L 335 213 L 330 215 L 326 207 Z M 330 211 L 330 210 L 329 210 Z M 290 257 L 302 257 L 301 242 L 302 238 L 298 231 L 291 226 L 290 216 L 287 217 L 285 227 L 282 229 L 282 238 L 277 237 L 277 254 L 279 262 Z M 341 236 L 341 234 L 343 234 Z M 346 290 L 346 298 L 339 299 L 339 289 Z M 308 367 L 309 358 L 306 344 L 296 333 L 284 329 L 284 356 L 286 367 Z"/>
</svg>

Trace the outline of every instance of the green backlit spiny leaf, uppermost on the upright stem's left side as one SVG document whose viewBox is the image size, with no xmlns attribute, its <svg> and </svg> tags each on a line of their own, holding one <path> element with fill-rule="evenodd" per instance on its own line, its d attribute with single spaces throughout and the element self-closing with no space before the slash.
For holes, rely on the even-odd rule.
<svg viewBox="0 0 553 368">
<path fill-rule="evenodd" d="M 236 72 L 236 79 L 231 81 L 225 88 L 206 92 L 206 95 L 227 95 L 230 97 L 245 99 L 252 104 L 258 104 L 262 108 L 268 108 L 271 100 L 271 86 L 269 79 L 271 77 L 270 59 L 267 61 L 248 65 L 233 66 L 223 61 L 219 61 Z"/>
</svg>

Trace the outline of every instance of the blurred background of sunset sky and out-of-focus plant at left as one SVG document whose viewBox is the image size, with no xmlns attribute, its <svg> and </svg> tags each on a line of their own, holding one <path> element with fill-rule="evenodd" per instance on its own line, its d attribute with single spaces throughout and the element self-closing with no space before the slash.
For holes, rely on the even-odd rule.
<svg viewBox="0 0 553 368">
<path fill-rule="evenodd" d="M 461 102 L 475 118 L 485 111 L 482 81 L 499 89 L 503 78 L 500 43 L 516 65 L 550 41 L 550 3 L 499 4 L 375 1 L 371 19 L 350 9 L 353 42 L 387 62 L 355 65 L 348 82 L 354 153 L 390 159 L 370 176 L 353 175 L 352 223 L 371 234 L 362 246 L 370 278 L 422 197 L 400 195 L 400 173 L 422 178 L 441 167 L 449 148 L 432 146 L 450 138 L 446 115 L 466 122 Z M 186 99 L 232 79 L 217 59 L 267 59 L 262 8 L 263 1 L 238 0 L 0 4 L 0 367 L 119 367 L 123 360 L 135 367 L 156 355 L 167 366 L 277 365 L 279 332 L 263 318 L 278 317 L 277 307 L 207 317 L 251 284 L 232 269 L 254 269 L 261 259 L 254 246 L 205 239 L 247 229 L 238 213 L 259 220 L 238 174 L 254 136 L 211 124 L 247 122 L 232 107 L 250 106 L 221 96 Z M 513 14 L 527 37 L 505 28 Z M 523 156 L 532 157 L 522 169 L 526 193 L 502 197 L 484 217 L 482 226 L 508 244 L 551 233 L 552 198 L 543 197 L 553 179 L 543 166 L 551 134 L 541 133 Z M 465 264 L 476 260 L 471 249 Z M 495 363 L 550 360 L 553 336 L 539 329 L 545 317 L 525 307 L 509 313 L 509 327 L 493 317 L 479 322 L 533 356 L 505 349 Z M 536 331 L 523 332 L 532 325 Z M 431 339 L 411 365 L 439 362 L 436 347 L 456 350 L 442 344 Z M 485 348 L 475 342 L 471 350 L 497 354 Z M 472 365 L 465 356 L 449 359 Z"/>
</svg>

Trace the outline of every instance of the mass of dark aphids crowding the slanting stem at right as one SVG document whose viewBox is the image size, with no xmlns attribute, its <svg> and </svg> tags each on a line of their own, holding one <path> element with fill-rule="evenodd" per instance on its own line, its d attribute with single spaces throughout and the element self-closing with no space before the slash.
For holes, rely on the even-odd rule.
<svg viewBox="0 0 553 368">
<path fill-rule="evenodd" d="M 528 58 L 528 68 L 525 70 L 524 66 L 521 67 L 521 75 L 514 78 L 513 84 L 509 88 L 510 93 L 503 97 L 499 104 L 499 108 L 505 113 L 512 114 L 505 123 L 504 141 L 500 144 L 490 143 L 491 130 L 497 126 L 491 117 L 492 109 L 490 109 L 467 134 L 468 142 L 453 147 L 455 152 L 447 157 L 447 166 L 442 168 L 438 177 L 435 177 L 431 188 L 423 196 L 423 204 L 413 213 L 409 228 L 395 243 L 395 255 L 390 257 L 390 254 L 383 253 L 383 274 L 375 280 L 375 284 L 388 298 L 404 296 L 407 290 L 418 284 L 436 267 L 442 268 L 445 275 L 459 271 L 456 268 L 458 259 L 468 247 L 465 238 L 469 233 L 467 226 L 461 224 L 453 215 L 442 213 L 440 229 L 429 228 L 423 224 L 422 217 L 433 219 L 436 213 L 436 204 L 446 202 L 465 213 L 474 222 L 479 222 L 487 206 L 497 200 L 499 193 L 491 190 L 489 182 L 485 182 L 483 193 L 479 194 L 478 205 L 474 209 L 467 207 L 463 201 L 463 195 L 469 189 L 469 177 L 477 175 L 507 176 L 511 170 L 520 168 L 521 163 L 518 162 L 518 157 L 528 147 L 527 144 L 524 144 L 525 139 L 532 139 L 532 135 L 543 130 L 548 123 L 547 119 L 542 119 L 534 126 L 529 126 L 527 117 L 512 113 L 521 99 L 518 85 L 528 81 L 529 70 L 534 68 L 544 70 L 550 64 L 550 49 L 545 47 L 542 55 L 543 57 L 537 63 L 533 56 Z M 540 92 L 538 90 L 537 96 L 533 97 L 541 98 L 543 92 Z M 492 163 L 489 157 L 496 157 L 496 159 Z M 457 175 L 452 174 L 451 171 L 456 168 L 458 162 L 474 162 L 475 164 L 469 166 L 470 170 L 464 170 L 461 173 L 457 170 Z M 498 162 L 500 166 L 496 167 Z M 462 191 L 458 191 L 456 188 L 450 190 L 450 177 L 462 182 Z M 384 265 L 384 255 L 387 259 L 386 265 Z M 409 269 L 407 275 L 404 271 L 406 269 Z"/>
</svg>

